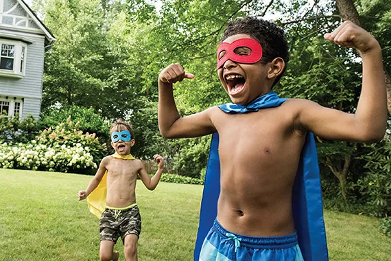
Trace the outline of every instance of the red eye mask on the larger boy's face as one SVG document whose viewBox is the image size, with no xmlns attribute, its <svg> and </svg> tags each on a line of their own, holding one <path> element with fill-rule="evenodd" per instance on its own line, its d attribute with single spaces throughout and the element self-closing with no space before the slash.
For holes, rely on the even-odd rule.
<svg viewBox="0 0 391 261">
<path fill-rule="evenodd" d="M 238 47 L 247 47 L 251 49 L 248 55 L 235 54 L 235 49 Z M 221 52 L 226 53 L 220 57 Z M 261 44 L 252 38 L 241 38 L 232 43 L 220 43 L 217 48 L 217 69 L 223 67 L 227 60 L 233 60 L 237 63 L 257 63 L 262 58 Z"/>
</svg>

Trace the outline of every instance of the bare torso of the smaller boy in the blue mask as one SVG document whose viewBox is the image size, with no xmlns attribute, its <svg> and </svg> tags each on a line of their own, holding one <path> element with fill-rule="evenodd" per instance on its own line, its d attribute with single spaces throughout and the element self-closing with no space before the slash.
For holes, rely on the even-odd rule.
<svg viewBox="0 0 391 261">
<path fill-rule="evenodd" d="M 106 205 L 128 207 L 136 203 L 137 174 L 141 168 L 138 159 L 124 160 L 110 157 L 107 169 Z"/>
</svg>

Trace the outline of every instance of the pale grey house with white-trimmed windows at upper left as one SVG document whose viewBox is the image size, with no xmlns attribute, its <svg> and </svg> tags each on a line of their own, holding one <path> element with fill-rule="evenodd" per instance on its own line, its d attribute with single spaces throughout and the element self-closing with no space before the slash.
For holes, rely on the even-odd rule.
<svg viewBox="0 0 391 261">
<path fill-rule="evenodd" d="M 38 119 L 44 52 L 54 41 L 23 0 L 0 0 L 0 113 Z"/>
</svg>

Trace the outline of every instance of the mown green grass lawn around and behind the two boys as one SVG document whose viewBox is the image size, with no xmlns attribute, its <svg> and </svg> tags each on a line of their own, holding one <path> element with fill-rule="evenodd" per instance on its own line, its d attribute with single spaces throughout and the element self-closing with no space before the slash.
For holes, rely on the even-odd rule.
<svg viewBox="0 0 391 261">
<path fill-rule="evenodd" d="M 0 260 L 99 260 L 98 219 L 77 199 L 90 179 L 0 170 Z M 150 192 L 137 184 L 139 260 L 192 260 L 201 195 L 200 185 L 160 183 Z M 329 211 L 325 219 L 330 260 L 391 260 L 379 220 Z"/>
</svg>

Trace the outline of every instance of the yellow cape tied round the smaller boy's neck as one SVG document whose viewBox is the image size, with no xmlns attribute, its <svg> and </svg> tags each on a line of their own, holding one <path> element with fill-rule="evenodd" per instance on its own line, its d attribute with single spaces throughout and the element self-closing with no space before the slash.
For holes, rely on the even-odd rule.
<svg viewBox="0 0 391 261">
<path fill-rule="evenodd" d="M 113 158 L 117 159 L 134 159 L 132 155 L 121 156 L 117 152 L 111 155 Z M 102 181 L 99 182 L 97 188 L 93 190 L 87 196 L 88 209 L 90 212 L 100 218 L 104 209 L 106 208 L 106 194 L 107 194 L 107 170 L 102 177 Z"/>
</svg>

